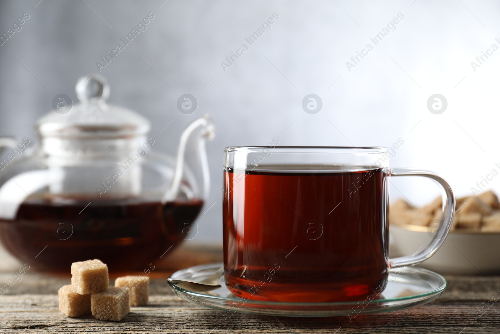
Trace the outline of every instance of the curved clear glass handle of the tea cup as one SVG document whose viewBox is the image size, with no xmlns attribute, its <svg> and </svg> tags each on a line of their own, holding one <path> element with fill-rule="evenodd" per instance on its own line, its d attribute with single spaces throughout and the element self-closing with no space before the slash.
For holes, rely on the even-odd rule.
<svg viewBox="0 0 500 334">
<path fill-rule="evenodd" d="M 423 248 L 422 250 L 409 255 L 401 256 L 390 259 L 390 268 L 401 267 L 405 265 L 415 265 L 426 259 L 428 259 L 432 254 L 434 254 L 437 249 L 441 246 L 444 238 L 448 234 L 451 227 L 451 222 L 453 220 L 453 214 L 455 212 L 455 196 L 449 184 L 444 181 L 440 176 L 426 170 L 415 170 L 408 168 L 393 168 L 389 172 L 389 176 L 422 176 L 437 182 L 443 189 L 443 206 L 441 219 L 439 221 L 439 226 L 437 231 L 433 234 L 432 240 Z"/>
</svg>

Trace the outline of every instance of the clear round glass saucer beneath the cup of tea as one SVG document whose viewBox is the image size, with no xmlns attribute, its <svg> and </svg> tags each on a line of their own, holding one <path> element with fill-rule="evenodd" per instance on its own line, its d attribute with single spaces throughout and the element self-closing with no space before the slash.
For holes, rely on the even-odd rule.
<svg viewBox="0 0 500 334">
<path fill-rule="evenodd" d="M 200 281 L 219 270 L 221 263 L 203 264 L 178 270 L 170 278 Z M 236 297 L 225 287 L 194 292 L 168 282 L 180 298 L 210 308 L 229 312 L 274 316 L 356 316 L 357 314 L 397 311 L 428 303 L 441 295 L 446 280 L 441 275 L 419 267 L 402 267 L 389 271 L 388 283 L 379 299 L 346 302 L 281 302 L 246 300 Z"/>
</svg>

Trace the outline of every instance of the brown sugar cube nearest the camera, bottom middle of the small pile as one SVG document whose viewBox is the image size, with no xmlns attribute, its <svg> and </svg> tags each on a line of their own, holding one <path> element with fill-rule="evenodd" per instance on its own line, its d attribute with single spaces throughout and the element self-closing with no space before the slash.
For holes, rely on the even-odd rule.
<svg viewBox="0 0 500 334">
<path fill-rule="evenodd" d="M 119 321 L 130 312 L 130 289 L 110 286 L 107 290 L 92 293 L 90 308 L 94 318 Z"/>
</svg>

